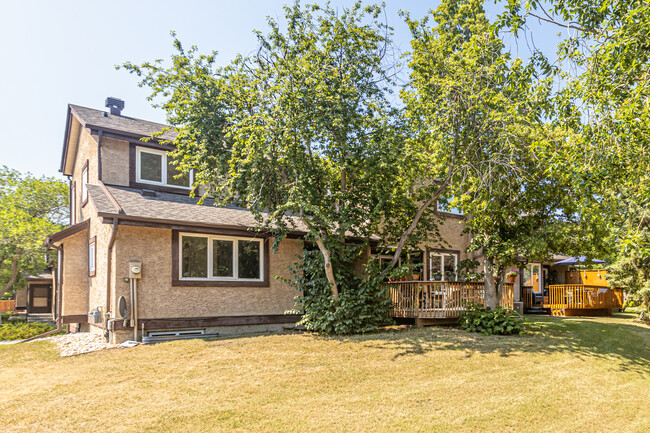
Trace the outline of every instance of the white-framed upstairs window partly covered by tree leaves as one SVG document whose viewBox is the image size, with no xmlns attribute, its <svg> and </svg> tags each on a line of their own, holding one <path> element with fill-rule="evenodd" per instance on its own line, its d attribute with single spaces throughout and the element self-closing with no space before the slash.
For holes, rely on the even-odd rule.
<svg viewBox="0 0 650 433">
<path fill-rule="evenodd" d="M 189 189 L 192 174 L 181 172 L 173 165 L 164 150 L 138 148 L 136 152 L 136 177 L 140 183 Z M 180 176 L 179 176 L 180 175 Z"/>
</svg>

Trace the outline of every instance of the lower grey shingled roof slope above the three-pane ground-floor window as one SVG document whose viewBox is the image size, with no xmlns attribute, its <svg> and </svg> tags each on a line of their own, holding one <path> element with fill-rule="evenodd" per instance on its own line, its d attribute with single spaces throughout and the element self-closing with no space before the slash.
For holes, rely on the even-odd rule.
<svg viewBox="0 0 650 433">
<path fill-rule="evenodd" d="M 236 206 L 215 206 L 210 199 L 199 205 L 198 198 L 181 194 L 156 191 L 149 195 L 141 189 L 91 184 L 88 185 L 88 193 L 100 216 L 119 215 L 123 219 L 239 229 L 258 225 L 250 210 Z M 296 231 L 307 231 L 297 218 L 294 223 Z"/>
</svg>

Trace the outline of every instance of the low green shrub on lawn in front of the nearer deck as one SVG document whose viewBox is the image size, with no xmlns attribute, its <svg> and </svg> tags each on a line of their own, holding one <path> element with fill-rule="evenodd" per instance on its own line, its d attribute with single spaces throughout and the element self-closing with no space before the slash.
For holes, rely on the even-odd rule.
<svg viewBox="0 0 650 433">
<path fill-rule="evenodd" d="M 458 321 L 460 328 L 469 332 L 485 335 L 520 334 L 523 330 L 523 318 L 514 310 L 497 307 L 496 310 L 484 309 L 482 305 L 471 304 Z"/>
</svg>

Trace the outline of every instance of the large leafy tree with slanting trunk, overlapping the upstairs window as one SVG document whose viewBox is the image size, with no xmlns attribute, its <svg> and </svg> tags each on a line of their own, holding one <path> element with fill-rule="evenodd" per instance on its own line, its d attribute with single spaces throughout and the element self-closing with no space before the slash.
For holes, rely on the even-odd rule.
<svg viewBox="0 0 650 433">
<path fill-rule="evenodd" d="M 347 268 L 403 191 L 383 12 L 360 2 L 339 11 L 296 2 L 285 7 L 286 23 L 269 19 L 268 34 L 257 32 L 254 54 L 225 68 L 178 40 L 168 68 L 123 66 L 143 77 L 151 98 L 164 99 L 179 131 L 175 157 L 206 195 L 246 206 L 276 241 L 307 231 L 334 309 L 345 304 L 338 298 L 350 285 Z"/>
</svg>

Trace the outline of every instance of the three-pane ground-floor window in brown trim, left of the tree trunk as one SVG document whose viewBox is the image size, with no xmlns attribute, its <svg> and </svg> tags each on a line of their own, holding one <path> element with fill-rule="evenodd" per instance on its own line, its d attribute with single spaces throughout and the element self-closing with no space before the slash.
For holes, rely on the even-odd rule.
<svg viewBox="0 0 650 433">
<path fill-rule="evenodd" d="M 181 280 L 262 281 L 263 240 L 180 234 Z"/>
</svg>

